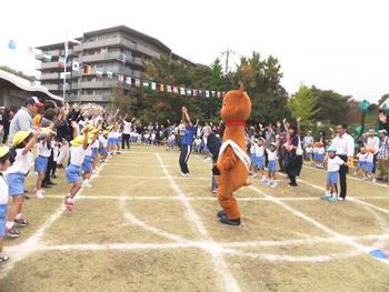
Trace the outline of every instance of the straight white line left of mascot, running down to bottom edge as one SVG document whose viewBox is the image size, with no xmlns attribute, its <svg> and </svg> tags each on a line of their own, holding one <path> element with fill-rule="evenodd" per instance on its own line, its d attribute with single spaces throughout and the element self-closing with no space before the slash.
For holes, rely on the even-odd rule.
<svg viewBox="0 0 389 292">
<path fill-rule="evenodd" d="M 201 222 L 200 218 L 198 217 L 198 214 L 196 213 L 193 207 L 190 204 L 188 197 L 186 197 L 183 194 L 183 192 L 181 191 L 180 187 L 176 183 L 176 181 L 172 179 L 172 177 L 169 174 L 161 157 L 159 153 L 156 153 L 156 157 L 159 161 L 159 164 L 167 178 L 167 180 L 170 182 L 171 188 L 176 191 L 176 193 L 178 194 L 178 197 L 181 198 L 181 202 L 183 204 L 183 207 L 187 210 L 187 217 L 190 221 L 191 224 L 193 224 L 196 226 L 196 229 L 198 230 L 199 233 L 201 233 L 201 235 L 209 241 L 209 244 L 207 245 L 208 248 L 206 249 L 207 252 L 209 252 L 212 255 L 212 262 L 215 264 L 213 270 L 216 273 L 219 274 L 220 279 L 222 280 L 222 285 L 225 288 L 225 291 L 233 291 L 233 292 L 238 292 L 240 291 L 240 286 L 237 282 L 237 280 L 233 278 L 233 275 L 231 274 L 229 268 L 227 266 L 227 263 L 223 259 L 222 255 L 222 248 L 217 244 L 211 236 L 208 234 L 208 231 L 206 230 L 206 226 L 203 225 L 203 223 Z"/>
</svg>

